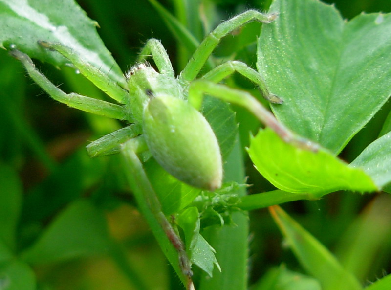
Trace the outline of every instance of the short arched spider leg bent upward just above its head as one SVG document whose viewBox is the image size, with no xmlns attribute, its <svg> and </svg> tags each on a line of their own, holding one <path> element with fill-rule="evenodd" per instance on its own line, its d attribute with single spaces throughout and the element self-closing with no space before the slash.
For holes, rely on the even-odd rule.
<svg viewBox="0 0 391 290">
<path fill-rule="evenodd" d="M 174 69 L 171 65 L 166 49 L 159 40 L 154 38 L 149 39 L 141 49 L 137 62 L 144 62 L 147 57 L 150 56 L 152 56 L 153 61 L 161 74 L 174 78 Z"/>
</svg>

